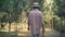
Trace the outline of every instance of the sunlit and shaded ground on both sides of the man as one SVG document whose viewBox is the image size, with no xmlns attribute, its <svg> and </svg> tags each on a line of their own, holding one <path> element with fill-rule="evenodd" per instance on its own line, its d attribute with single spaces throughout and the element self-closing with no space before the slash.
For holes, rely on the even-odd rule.
<svg viewBox="0 0 65 37">
<path fill-rule="evenodd" d="M 26 26 L 26 25 L 25 25 Z M 23 25 L 17 25 L 17 32 L 15 32 L 14 25 L 11 27 L 11 37 L 31 37 L 30 30 L 27 30 L 27 26 L 25 27 Z M 4 29 L 0 30 L 0 37 L 9 37 L 9 30 L 8 26 L 5 26 Z M 40 32 L 40 35 L 42 36 L 42 32 Z M 44 37 L 60 37 L 60 33 L 46 28 Z M 63 36 L 64 37 L 64 36 Z"/>
</svg>

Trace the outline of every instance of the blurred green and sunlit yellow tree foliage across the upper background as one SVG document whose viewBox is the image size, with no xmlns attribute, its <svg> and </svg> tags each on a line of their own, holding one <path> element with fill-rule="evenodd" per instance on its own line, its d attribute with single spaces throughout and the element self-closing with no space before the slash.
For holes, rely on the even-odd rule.
<svg viewBox="0 0 65 37">
<path fill-rule="evenodd" d="M 53 23 L 55 29 L 58 29 L 61 26 L 58 17 L 65 17 L 65 2 L 60 0 L 0 0 L 0 22 L 20 22 L 22 12 L 25 11 L 28 14 L 35 1 L 40 4 L 47 25 L 51 25 L 54 15 L 57 15 Z"/>
</svg>

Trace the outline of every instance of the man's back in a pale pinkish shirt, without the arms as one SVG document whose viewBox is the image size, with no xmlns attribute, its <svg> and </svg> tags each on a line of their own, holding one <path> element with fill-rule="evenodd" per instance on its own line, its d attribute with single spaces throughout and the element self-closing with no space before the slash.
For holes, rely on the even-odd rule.
<svg viewBox="0 0 65 37">
<path fill-rule="evenodd" d="M 34 34 L 38 34 L 40 32 L 42 23 L 43 23 L 42 13 L 38 9 L 30 11 L 29 25 L 30 25 L 30 29 Z"/>
</svg>

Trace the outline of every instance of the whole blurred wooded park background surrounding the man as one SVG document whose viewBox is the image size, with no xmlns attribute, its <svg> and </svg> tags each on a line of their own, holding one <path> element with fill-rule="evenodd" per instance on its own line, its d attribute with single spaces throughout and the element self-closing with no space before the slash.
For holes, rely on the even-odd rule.
<svg viewBox="0 0 65 37">
<path fill-rule="evenodd" d="M 65 37 L 65 0 L 0 0 L 0 37 L 31 36 L 28 13 L 35 1 L 43 13 L 44 36 Z"/>
</svg>

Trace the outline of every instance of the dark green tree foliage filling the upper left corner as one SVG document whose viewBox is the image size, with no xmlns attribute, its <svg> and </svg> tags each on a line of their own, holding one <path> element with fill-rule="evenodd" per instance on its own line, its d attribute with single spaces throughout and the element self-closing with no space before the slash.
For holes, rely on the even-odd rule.
<svg viewBox="0 0 65 37">
<path fill-rule="evenodd" d="M 18 15 L 22 13 L 23 5 L 20 2 L 22 0 L 1 0 L 0 1 L 0 13 L 5 12 L 8 13 L 9 20 L 11 22 L 18 21 Z M 1 17 L 3 18 L 3 16 Z M 8 17 L 6 17 L 8 18 Z M 3 18 L 5 20 L 5 18 Z M 8 21 L 9 21 L 8 20 Z M 3 21 L 4 22 L 4 21 Z"/>
</svg>

